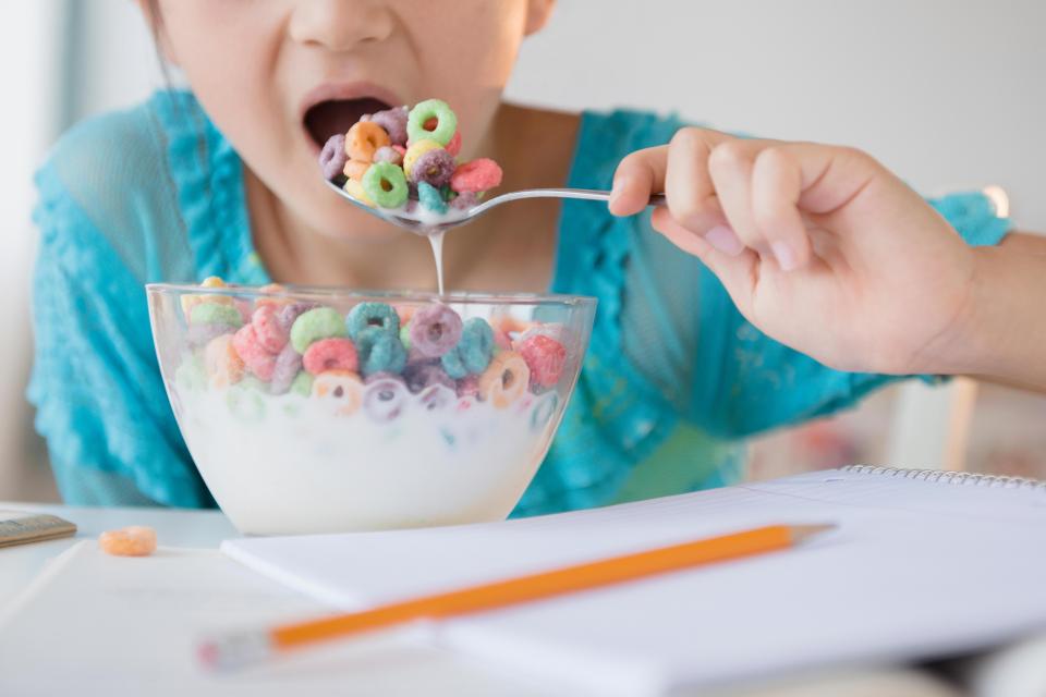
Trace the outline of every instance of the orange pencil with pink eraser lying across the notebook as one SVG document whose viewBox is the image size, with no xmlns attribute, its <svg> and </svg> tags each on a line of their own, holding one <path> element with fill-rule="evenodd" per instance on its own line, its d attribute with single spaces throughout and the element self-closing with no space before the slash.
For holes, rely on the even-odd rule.
<svg viewBox="0 0 1046 697">
<path fill-rule="evenodd" d="M 311 644 L 417 620 L 474 614 L 704 564 L 783 550 L 834 527 L 770 525 L 424 596 L 361 612 L 267 629 L 230 633 L 202 641 L 198 658 L 209 669 L 241 668 Z"/>
</svg>

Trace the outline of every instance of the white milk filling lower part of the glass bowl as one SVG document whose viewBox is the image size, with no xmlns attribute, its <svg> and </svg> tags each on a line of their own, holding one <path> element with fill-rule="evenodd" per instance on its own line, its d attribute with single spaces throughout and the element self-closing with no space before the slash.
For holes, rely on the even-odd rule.
<svg viewBox="0 0 1046 697">
<path fill-rule="evenodd" d="M 455 398 L 429 411 L 409 395 L 397 418 L 330 402 L 170 384 L 193 460 L 243 533 L 369 530 L 499 521 L 548 450 L 555 393 L 497 409 Z M 230 406 L 232 405 L 232 407 Z"/>
</svg>

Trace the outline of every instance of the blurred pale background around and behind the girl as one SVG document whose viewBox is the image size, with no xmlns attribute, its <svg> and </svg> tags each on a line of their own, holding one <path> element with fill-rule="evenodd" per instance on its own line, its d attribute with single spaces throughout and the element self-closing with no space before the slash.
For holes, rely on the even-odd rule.
<svg viewBox="0 0 1046 697">
<path fill-rule="evenodd" d="M 927 195 L 999 187 L 1020 229 L 1046 231 L 1043 26 L 1041 0 L 560 0 L 508 96 L 859 146 Z M 0 500 L 54 500 L 24 400 L 32 173 L 72 123 L 162 78 L 132 0 L 4 2 L 0 27 Z M 1046 476 L 1044 423 L 1039 396 L 910 384 L 761 439 L 751 476 L 852 462 Z"/>
</svg>

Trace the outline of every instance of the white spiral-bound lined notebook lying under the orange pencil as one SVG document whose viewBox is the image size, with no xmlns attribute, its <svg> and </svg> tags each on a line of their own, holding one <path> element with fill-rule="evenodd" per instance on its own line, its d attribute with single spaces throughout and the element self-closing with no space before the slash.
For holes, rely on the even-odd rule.
<svg viewBox="0 0 1046 697">
<path fill-rule="evenodd" d="M 222 550 L 360 609 L 774 523 L 803 547 L 446 622 L 455 650 L 598 694 L 661 694 L 1046 631 L 1046 485 L 851 467 L 504 523 L 230 540 Z"/>
</svg>

